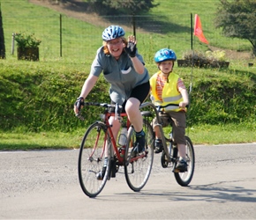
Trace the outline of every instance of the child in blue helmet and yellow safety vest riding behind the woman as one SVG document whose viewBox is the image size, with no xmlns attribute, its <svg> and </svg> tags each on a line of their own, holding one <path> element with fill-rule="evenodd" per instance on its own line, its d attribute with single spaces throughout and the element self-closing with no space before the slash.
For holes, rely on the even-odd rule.
<svg viewBox="0 0 256 220">
<path fill-rule="evenodd" d="M 188 92 L 184 86 L 182 79 L 172 72 L 174 62 L 177 57 L 173 50 L 162 48 L 154 55 L 154 61 L 157 64 L 159 71 L 150 78 L 151 99 L 155 106 L 166 106 L 168 104 L 177 104 L 178 106 L 167 106 L 164 111 L 173 121 L 173 138 L 177 143 L 179 152 L 179 161 L 174 172 L 186 172 L 187 164 L 185 157 L 185 112 L 189 104 Z M 163 127 L 169 125 L 169 117 L 161 116 L 160 123 Z M 154 122 L 155 124 L 155 119 Z M 155 153 L 160 153 L 163 150 L 162 140 L 158 127 L 154 127 L 155 132 Z"/>
</svg>

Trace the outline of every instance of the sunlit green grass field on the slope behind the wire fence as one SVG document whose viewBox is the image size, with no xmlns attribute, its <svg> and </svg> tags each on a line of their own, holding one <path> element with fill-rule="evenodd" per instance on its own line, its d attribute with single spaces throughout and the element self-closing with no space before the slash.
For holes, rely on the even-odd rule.
<svg viewBox="0 0 256 220">
<path fill-rule="evenodd" d="M 204 34 L 211 47 L 249 51 L 251 45 L 248 40 L 228 39 L 222 36 L 220 30 L 215 29 L 215 9 L 218 2 L 212 0 L 200 4 L 198 1 L 155 0 L 156 4 L 160 4 L 158 7 L 147 15 L 136 17 L 139 53 L 144 56 L 147 64 L 154 64 L 154 53 L 159 48 L 172 48 L 178 58 L 191 49 L 191 13 L 192 18 L 196 13 L 200 15 Z M 124 26 L 126 35 L 132 33 L 131 22 L 125 17 L 99 17 L 85 13 L 81 19 L 76 19 L 62 13 L 63 56 L 60 59 L 60 12 L 26 0 L 2 1 L 1 8 L 8 59 L 16 59 L 16 55 L 9 53 L 11 34 L 15 32 L 32 32 L 41 39 L 41 62 L 68 61 L 86 66 L 94 58 L 95 50 L 102 45 L 102 30 L 106 26 L 117 23 Z M 193 48 L 206 51 L 207 45 L 193 38 Z"/>
</svg>

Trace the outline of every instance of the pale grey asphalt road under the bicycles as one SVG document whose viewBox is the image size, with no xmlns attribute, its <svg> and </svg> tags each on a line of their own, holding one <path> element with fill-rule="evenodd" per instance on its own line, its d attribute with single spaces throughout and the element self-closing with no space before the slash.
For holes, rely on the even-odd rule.
<svg viewBox="0 0 256 220">
<path fill-rule="evenodd" d="M 79 187 L 78 155 L 0 151 L 0 219 L 256 219 L 256 143 L 195 146 L 189 187 L 154 155 L 141 192 L 128 187 L 121 168 L 94 199 Z"/>
</svg>

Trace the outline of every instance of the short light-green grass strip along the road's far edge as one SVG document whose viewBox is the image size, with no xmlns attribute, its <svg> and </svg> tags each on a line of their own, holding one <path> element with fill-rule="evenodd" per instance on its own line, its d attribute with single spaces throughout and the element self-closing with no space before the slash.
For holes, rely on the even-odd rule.
<svg viewBox="0 0 256 220">
<path fill-rule="evenodd" d="M 85 131 L 85 128 L 79 128 L 69 133 L 1 133 L 0 150 L 78 149 Z M 187 128 L 186 133 L 194 145 L 256 142 L 256 124 L 200 125 Z"/>
</svg>

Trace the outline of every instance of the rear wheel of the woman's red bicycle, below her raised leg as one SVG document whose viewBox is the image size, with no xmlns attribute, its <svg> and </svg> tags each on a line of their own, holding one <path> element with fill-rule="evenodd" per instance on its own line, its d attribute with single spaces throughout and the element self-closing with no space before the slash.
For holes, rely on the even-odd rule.
<svg viewBox="0 0 256 220">
<path fill-rule="evenodd" d="M 154 133 L 149 122 L 143 120 L 143 130 L 146 134 L 145 152 L 135 158 L 131 157 L 133 143 L 135 143 L 135 131 L 129 128 L 127 146 L 125 152 L 124 173 L 128 186 L 135 192 L 142 189 L 150 176 L 154 159 Z"/>
</svg>

